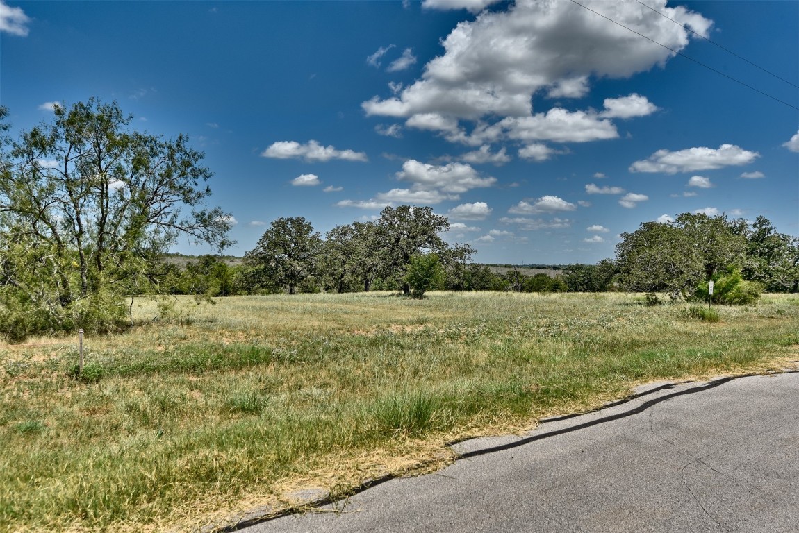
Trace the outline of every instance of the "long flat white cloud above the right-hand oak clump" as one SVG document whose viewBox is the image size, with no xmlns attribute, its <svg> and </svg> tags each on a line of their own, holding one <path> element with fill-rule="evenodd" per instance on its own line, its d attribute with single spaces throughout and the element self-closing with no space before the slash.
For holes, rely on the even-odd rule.
<svg viewBox="0 0 799 533">
<path fill-rule="evenodd" d="M 630 165 L 630 172 L 695 172 L 714 170 L 734 165 L 749 164 L 760 157 L 757 152 L 749 152 L 734 144 L 721 144 L 718 148 L 686 148 L 678 152 L 658 150 L 646 160 Z"/>
</svg>

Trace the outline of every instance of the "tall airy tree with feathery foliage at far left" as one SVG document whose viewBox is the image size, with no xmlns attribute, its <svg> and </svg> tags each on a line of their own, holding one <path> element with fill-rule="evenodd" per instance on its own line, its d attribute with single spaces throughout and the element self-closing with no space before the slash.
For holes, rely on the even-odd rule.
<svg viewBox="0 0 799 533">
<path fill-rule="evenodd" d="M 137 132 L 116 102 L 56 106 L 0 158 L 0 313 L 28 333 L 109 330 L 122 297 L 155 290 L 179 235 L 221 250 L 212 172 L 185 136 Z M 189 215 L 184 210 L 189 209 Z M 10 322 L 9 322 L 10 321 Z M 2 321 L 0 321 L 2 322 Z"/>
</svg>

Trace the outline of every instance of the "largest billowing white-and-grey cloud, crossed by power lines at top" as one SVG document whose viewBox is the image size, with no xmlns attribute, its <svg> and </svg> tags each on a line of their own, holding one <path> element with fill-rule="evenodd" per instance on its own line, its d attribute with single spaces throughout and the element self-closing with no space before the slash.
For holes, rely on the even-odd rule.
<svg viewBox="0 0 799 533">
<path fill-rule="evenodd" d="M 425 5 L 471 6 L 476 12 L 487 1 L 431 0 Z M 682 6 L 667 7 L 666 0 L 652 0 L 649 5 L 678 24 L 636 2 L 586 0 L 585 4 L 676 51 L 690 40 L 682 25 L 702 35 L 712 25 Z M 591 77 L 630 77 L 674 56 L 670 49 L 630 30 L 574 2 L 519 0 L 505 10 L 485 10 L 475 20 L 455 26 L 441 43 L 443 54 L 427 63 L 419 80 L 396 97 L 364 102 L 364 109 L 377 115 L 439 113 L 467 120 L 530 116 L 531 96 L 539 91 L 551 97 L 582 97 L 590 89 Z"/>
</svg>

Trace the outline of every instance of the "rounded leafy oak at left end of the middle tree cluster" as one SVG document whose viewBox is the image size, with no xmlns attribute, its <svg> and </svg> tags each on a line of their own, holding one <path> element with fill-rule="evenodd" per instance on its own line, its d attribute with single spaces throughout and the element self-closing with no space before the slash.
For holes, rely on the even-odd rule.
<svg viewBox="0 0 799 533">
<path fill-rule="evenodd" d="M 288 294 L 296 294 L 301 283 L 316 276 L 321 251 L 322 239 L 308 220 L 280 217 L 244 255 L 244 265 L 256 285 L 285 287 Z"/>
</svg>

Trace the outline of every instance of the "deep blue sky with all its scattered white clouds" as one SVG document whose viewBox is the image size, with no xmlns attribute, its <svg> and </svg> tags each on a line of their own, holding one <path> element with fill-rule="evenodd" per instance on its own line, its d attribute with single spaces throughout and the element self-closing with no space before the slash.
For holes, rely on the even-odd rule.
<svg viewBox="0 0 799 533">
<path fill-rule="evenodd" d="M 799 235 L 799 2 L 577 2 L 2 0 L 0 105 L 189 135 L 234 255 L 403 203 L 483 263 L 595 263 L 686 211 Z"/>
</svg>

